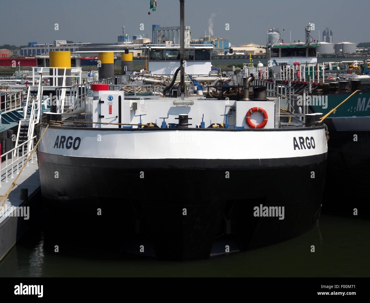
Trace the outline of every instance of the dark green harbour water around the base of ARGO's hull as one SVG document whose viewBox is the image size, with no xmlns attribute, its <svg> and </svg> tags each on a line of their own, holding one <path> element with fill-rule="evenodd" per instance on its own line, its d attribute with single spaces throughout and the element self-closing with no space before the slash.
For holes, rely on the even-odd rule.
<svg viewBox="0 0 370 303">
<path fill-rule="evenodd" d="M 206 260 L 168 262 L 120 252 L 120 239 L 64 239 L 31 228 L 0 262 L 1 277 L 370 277 L 370 221 L 321 215 L 276 245 Z M 63 243 L 63 244 L 62 244 Z M 59 244 L 59 252 L 54 246 Z M 314 252 L 312 252 L 314 246 Z"/>
</svg>

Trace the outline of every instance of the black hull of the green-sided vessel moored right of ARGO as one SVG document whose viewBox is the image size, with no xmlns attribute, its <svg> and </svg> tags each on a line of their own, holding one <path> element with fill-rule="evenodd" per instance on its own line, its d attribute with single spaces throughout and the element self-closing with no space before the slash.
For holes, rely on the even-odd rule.
<svg viewBox="0 0 370 303">
<path fill-rule="evenodd" d="M 329 130 L 323 212 L 370 219 L 367 188 L 370 181 L 370 132 L 337 131 L 332 119 Z M 354 135 L 357 141 L 354 141 Z M 354 208 L 357 215 L 354 215 Z"/>
</svg>

